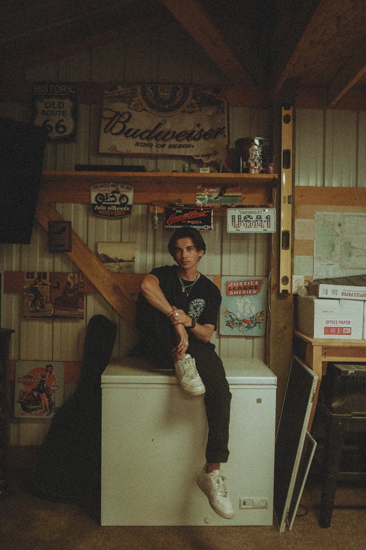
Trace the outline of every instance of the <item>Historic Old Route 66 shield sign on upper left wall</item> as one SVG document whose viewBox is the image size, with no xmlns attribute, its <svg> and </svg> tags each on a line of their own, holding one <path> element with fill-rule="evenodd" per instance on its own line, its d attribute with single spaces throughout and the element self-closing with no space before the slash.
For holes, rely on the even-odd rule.
<svg viewBox="0 0 366 550">
<path fill-rule="evenodd" d="M 46 128 L 52 141 L 75 141 L 76 85 L 37 82 L 32 85 L 33 122 Z"/>
</svg>

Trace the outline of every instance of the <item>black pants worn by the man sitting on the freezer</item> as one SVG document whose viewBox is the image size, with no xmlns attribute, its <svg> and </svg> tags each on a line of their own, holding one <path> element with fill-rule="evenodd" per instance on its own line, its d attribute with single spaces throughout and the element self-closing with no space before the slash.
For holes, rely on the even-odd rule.
<svg viewBox="0 0 366 550">
<path fill-rule="evenodd" d="M 175 332 L 172 331 L 170 322 L 165 321 L 166 319 L 167 317 L 159 319 L 165 325 L 164 331 L 159 331 L 159 335 L 163 334 L 164 338 L 159 338 L 159 335 L 155 334 L 153 342 L 147 346 L 147 355 L 156 368 L 174 368 L 171 349 L 176 344 Z M 189 338 L 187 353 L 195 359 L 197 371 L 206 387 L 204 394 L 208 422 L 206 460 L 209 463 L 227 462 L 231 393 L 223 362 L 215 352 L 213 344 L 205 344 L 197 338 Z M 192 397 L 192 399 L 195 398 Z"/>
</svg>

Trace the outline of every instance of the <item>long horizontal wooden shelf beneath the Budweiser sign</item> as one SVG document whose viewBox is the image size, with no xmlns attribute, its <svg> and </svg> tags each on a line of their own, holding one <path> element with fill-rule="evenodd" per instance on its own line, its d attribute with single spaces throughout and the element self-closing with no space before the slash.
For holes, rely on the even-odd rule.
<svg viewBox="0 0 366 550">
<path fill-rule="evenodd" d="M 277 178 L 277 174 L 43 171 L 40 194 L 47 202 L 90 202 L 91 185 L 115 182 L 134 188 L 135 204 L 195 204 L 196 194 L 225 187 L 228 194 L 241 195 L 240 204 L 268 206 Z"/>
</svg>

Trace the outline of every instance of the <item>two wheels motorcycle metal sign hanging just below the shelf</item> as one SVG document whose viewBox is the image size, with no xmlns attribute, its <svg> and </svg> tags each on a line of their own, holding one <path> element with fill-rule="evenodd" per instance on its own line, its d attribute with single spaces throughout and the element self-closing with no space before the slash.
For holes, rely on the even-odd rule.
<svg viewBox="0 0 366 550">
<path fill-rule="evenodd" d="M 101 218 L 117 219 L 130 216 L 134 202 L 134 188 L 130 185 L 107 182 L 92 185 L 91 211 Z"/>
</svg>

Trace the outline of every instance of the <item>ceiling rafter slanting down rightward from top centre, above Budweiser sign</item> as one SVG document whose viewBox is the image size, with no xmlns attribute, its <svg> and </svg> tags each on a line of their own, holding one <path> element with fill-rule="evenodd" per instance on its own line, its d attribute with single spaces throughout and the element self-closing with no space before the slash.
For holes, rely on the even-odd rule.
<svg viewBox="0 0 366 550">
<path fill-rule="evenodd" d="M 232 83 L 254 89 L 252 79 L 197 0 L 162 0 L 162 3 Z"/>
</svg>

